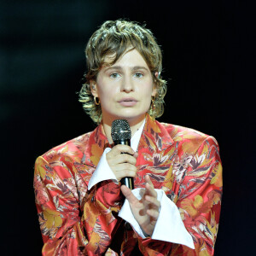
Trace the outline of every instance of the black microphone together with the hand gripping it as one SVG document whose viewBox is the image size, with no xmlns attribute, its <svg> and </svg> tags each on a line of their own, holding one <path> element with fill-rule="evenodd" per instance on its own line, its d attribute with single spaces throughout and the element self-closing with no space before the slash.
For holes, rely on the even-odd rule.
<svg viewBox="0 0 256 256">
<path fill-rule="evenodd" d="M 137 173 L 137 153 L 130 147 L 131 129 L 125 119 L 113 121 L 111 135 L 114 147 L 106 155 L 115 177 L 129 189 L 134 189 L 133 177 Z"/>
</svg>

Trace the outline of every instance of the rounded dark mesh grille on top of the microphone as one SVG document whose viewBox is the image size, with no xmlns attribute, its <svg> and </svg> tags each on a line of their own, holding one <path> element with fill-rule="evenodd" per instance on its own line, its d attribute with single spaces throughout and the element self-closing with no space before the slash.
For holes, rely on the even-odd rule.
<svg viewBox="0 0 256 256">
<path fill-rule="evenodd" d="M 125 119 L 113 120 L 113 123 L 111 126 L 111 137 L 113 139 L 113 142 L 131 139 L 131 129 L 127 120 Z"/>
</svg>

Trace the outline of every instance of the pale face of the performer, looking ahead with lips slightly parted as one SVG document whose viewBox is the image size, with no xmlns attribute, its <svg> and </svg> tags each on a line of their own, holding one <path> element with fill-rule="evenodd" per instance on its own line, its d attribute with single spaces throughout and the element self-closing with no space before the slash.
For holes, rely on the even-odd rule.
<svg viewBox="0 0 256 256">
<path fill-rule="evenodd" d="M 142 121 L 155 96 L 152 74 L 137 49 L 126 51 L 113 66 L 102 67 L 94 88 L 91 86 L 91 91 L 101 101 L 104 123 L 127 119 L 132 125 Z"/>
</svg>

